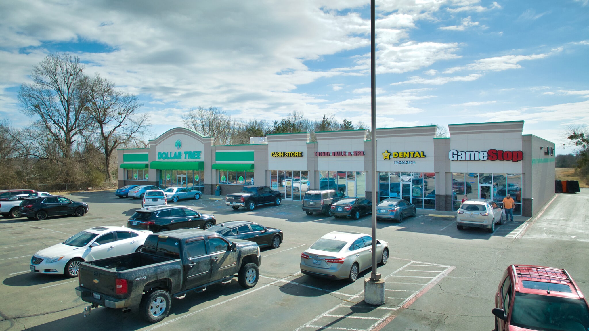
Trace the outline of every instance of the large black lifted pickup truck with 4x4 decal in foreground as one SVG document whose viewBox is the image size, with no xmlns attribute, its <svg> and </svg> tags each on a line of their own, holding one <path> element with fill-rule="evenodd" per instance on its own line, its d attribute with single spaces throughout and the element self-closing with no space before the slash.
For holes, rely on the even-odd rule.
<svg viewBox="0 0 589 331">
<path fill-rule="evenodd" d="M 137 253 L 84 262 L 76 294 L 92 308 L 139 309 L 150 323 L 170 312 L 171 297 L 203 292 L 214 283 L 239 284 L 249 289 L 259 278 L 260 247 L 212 231 L 184 229 L 150 234 Z"/>
</svg>

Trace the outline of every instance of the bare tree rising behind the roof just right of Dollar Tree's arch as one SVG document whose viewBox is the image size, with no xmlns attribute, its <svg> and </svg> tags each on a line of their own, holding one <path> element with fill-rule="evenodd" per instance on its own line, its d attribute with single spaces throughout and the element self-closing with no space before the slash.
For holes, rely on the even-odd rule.
<svg viewBox="0 0 589 331">
<path fill-rule="evenodd" d="M 240 124 L 217 107 L 191 109 L 182 115 L 184 125 L 205 137 L 213 137 L 213 144 L 227 145 Z"/>
</svg>

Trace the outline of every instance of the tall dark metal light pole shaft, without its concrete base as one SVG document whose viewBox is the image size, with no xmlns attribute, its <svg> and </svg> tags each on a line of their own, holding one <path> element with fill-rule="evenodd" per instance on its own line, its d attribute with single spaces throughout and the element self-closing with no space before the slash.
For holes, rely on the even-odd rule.
<svg viewBox="0 0 589 331">
<path fill-rule="evenodd" d="M 376 204 L 378 204 L 378 176 L 376 176 L 376 22 L 375 0 L 370 0 L 370 81 L 372 109 L 370 112 L 370 141 L 372 141 L 372 273 L 371 280 L 379 280 L 376 272 Z"/>
</svg>

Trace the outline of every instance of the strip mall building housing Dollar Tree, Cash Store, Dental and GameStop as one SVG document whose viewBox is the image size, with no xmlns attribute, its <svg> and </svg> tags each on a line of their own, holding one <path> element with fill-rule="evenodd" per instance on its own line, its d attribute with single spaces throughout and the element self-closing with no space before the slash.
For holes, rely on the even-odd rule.
<svg viewBox="0 0 589 331">
<path fill-rule="evenodd" d="M 514 214 L 532 216 L 554 194 L 554 143 L 522 134 L 523 121 L 376 129 L 379 200 L 404 198 L 417 208 L 456 210 L 462 198 L 510 194 Z M 364 130 L 273 134 L 249 145 L 213 145 L 186 128 L 174 128 L 150 147 L 118 150 L 119 186 L 183 186 L 214 194 L 270 186 L 286 200 L 307 190 L 335 188 L 372 197 L 371 142 Z"/>
</svg>

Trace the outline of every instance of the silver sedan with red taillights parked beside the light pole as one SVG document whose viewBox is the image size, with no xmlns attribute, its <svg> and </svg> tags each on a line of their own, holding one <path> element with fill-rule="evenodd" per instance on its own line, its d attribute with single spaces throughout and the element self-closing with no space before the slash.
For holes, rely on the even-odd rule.
<svg viewBox="0 0 589 331">
<path fill-rule="evenodd" d="M 389 244 L 376 240 L 376 261 L 389 259 Z M 355 282 L 363 270 L 372 267 L 372 236 L 352 231 L 327 233 L 300 254 L 300 272 L 309 276 L 348 279 Z"/>
</svg>

